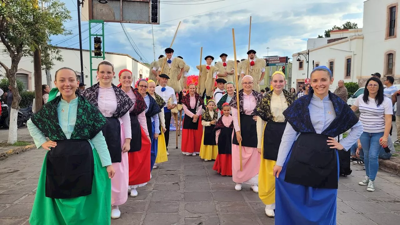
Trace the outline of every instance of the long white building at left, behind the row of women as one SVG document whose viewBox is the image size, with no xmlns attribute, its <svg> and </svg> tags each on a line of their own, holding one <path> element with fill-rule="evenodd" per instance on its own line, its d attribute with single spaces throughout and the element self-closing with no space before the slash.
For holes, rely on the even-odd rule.
<svg viewBox="0 0 400 225">
<path fill-rule="evenodd" d="M 0 44 L 0 49 L 4 49 L 4 45 Z M 78 79 L 80 79 L 80 52 L 79 49 L 76 48 L 64 48 L 58 47 L 61 50 L 60 55 L 62 55 L 63 62 L 54 61 L 55 65 L 52 70 L 50 70 L 52 87 L 54 87 L 54 74 L 59 68 L 62 67 L 70 67 L 78 74 Z M 93 53 L 94 54 L 94 53 Z M 115 85 L 119 84 L 118 82 L 118 73 L 120 70 L 127 68 L 131 70 L 133 73 L 134 83 L 140 78 L 146 78 L 149 75 L 150 69 L 133 58 L 128 54 L 120 54 L 114 52 L 105 52 L 106 60 L 112 62 L 114 64 L 115 76 L 113 78 L 113 83 Z M 84 65 L 84 84 L 86 84 L 86 88 L 90 87 L 90 60 L 89 60 L 89 50 L 83 50 L 83 65 Z M 11 58 L 7 53 L 3 53 L 0 55 L 0 61 L 2 61 L 6 66 L 10 68 L 11 66 Z M 99 62 L 102 59 L 94 58 L 92 61 L 93 69 L 97 68 Z M 6 71 L 4 68 L 0 68 L 0 78 L 5 78 Z M 17 78 L 20 79 L 25 84 L 26 90 L 34 90 L 34 67 L 33 67 L 33 58 L 32 57 L 23 57 L 18 64 L 18 72 Z M 96 81 L 96 71 L 92 72 L 92 84 L 95 84 Z M 46 71 L 42 71 L 42 84 L 47 84 L 46 80 Z"/>
</svg>

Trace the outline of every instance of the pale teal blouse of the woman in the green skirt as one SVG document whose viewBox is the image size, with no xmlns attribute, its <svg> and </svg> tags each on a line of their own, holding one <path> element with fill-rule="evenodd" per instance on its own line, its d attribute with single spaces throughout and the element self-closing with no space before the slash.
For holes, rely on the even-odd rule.
<svg viewBox="0 0 400 225">
<path fill-rule="evenodd" d="M 78 110 L 78 98 L 70 101 L 70 103 L 61 99 L 57 105 L 58 123 L 64 132 L 67 139 L 71 138 L 72 132 L 74 131 L 76 123 L 76 111 Z M 34 125 L 29 119 L 26 123 L 29 133 L 32 136 L 36 148 L 42 148 L 42 145 L 47 141 L 46 136 Z M 102 166 L 111 165 L 111 157 L 108 152 L 106 139 L 103 136 L 103 132 L 100 131 L 93 139 L 88 140 L 92 148 L 95 148 L 102 163 Z"/>
</svg>

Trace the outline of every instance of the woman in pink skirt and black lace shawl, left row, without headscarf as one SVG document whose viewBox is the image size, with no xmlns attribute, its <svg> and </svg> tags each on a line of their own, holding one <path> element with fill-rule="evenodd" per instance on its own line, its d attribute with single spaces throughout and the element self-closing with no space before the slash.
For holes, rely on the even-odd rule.
<svg viewBox="0 0 400 225">
<path fill-rule="evenodd" d="M 118 206 L 128 199 L 128 151 L 132 138 L 129 109 L 133 102 L 121 88 L 112 84 L 114 74 L 111 62 L 100 62 L 97 67 L 99 82 L 87 88 L 82 95 L 98 107 L 108 120 L 103 135 L 116 171 L 111 179 L 111 218 L 118 219 L 121 216 Z"/>
</svg>

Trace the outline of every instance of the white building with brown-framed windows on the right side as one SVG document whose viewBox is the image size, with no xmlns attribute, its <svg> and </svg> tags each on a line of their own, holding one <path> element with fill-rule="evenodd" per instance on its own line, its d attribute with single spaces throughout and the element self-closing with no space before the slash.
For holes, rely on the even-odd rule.
<svg viewBox="0 0 400 225">
<path fill-rule="evenodd" d="M 319 65 L 333 71 L 331 91 L 336 89 L 338 80 L 364 86 L 375 72 L 382 75 L 382 80 L 384 76 L 394 76 L 400 84 L 400 58 L 396 58 L 396 52 L 400 51 L 399 3 L 400 0 L 367 0 L 362 29 L 332 30 L 330 38 L 308 39 L 307 50 L 292 54 L 292 86 L 298 90 L 313 66 Z M 307 63 L 304 56 L 308 51 Z"/>
</svg>

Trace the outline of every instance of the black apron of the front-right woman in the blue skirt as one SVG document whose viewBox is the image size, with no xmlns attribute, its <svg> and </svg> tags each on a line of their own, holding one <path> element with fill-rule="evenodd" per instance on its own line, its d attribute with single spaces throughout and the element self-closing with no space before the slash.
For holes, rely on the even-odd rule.
<svg viewBox="0 0 400 225">
<path fill-rule="evenodd" d="M 336 149 L 330 149 L 328 136 L 301 133 L 292 147 L 285 181 L 314 188 L 338 188 Z"/>
</svg>

